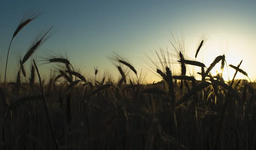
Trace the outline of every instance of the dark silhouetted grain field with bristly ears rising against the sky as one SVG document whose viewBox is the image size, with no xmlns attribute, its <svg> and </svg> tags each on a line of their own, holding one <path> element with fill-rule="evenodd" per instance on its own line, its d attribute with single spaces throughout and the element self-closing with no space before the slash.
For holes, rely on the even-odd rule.
<svg viewBox="0 0 256 150">
<path fill-rule="evenodd" d="M 12 40 L 40 15 L 29 11 Z M 236 73 L 231 81 L 224 81 L 221 73 L 212 76 L 210 71 L 217 63 L 224 69 L 225 55 L 206 67 L 185 56 L 183 41 L 173 40 L 170 42 L 175 54 L 160 50 L 156 52 L 158 61 L 149 57 L 145 60 L 163 79 L 157 84 L 143 84 L 143 74 L 117 53 L 109 57 L 120 73 L 117 81 L 106 74 L 96 80 L 98 69 L 94 79 L 85 78 L 67 57 L 51 53 L 42 59 L 55 64 L 56 75 L 47 83 L 42 81 L 33 60 L 28 77 L 24 63 L 54 33 L 50 27 L 36 35 L 19 60 L 16 82 L 4 80 L 0 86 L 1 150 L 256 148 L 254 83 L 235 80 L 238 72 L 247 76 L 240 69 L 242 61 L 237 66 L 229 65 Z M 203 36 L 195 58 L 206 40 Z M 172 56 L 180 64 L 180 74 L 171 70 Z M 201 68 L 200 80 L 186 75 L 188 65 Z M 129 71 L 135 78 L 129 76 Z"/>
</svg>

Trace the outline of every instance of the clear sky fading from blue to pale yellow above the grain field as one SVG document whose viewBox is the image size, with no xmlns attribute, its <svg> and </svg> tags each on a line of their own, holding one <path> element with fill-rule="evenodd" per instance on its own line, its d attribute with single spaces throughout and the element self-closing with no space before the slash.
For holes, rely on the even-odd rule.
<svg viewBox="0 0 256 150">
<path fill-rule="evenodd" d="M 237 66 L 256 79 L 256 1 L 172 1 L 172 0 L 2 0 L 0 2 L 0 73 L 3 80 L 6 56 L 13 32 L 28 9 L 43 12 L 25 26 L 15 37 L 9 54 L 7 79 L 15 80 L 18 55 L 22 58 L 35 35 L 47 26 L 58 31 L 33 55 L 41 76 L 47 77 L 52 68 L 38 57 L 45 52 L 65 52 L 81 72 L 88 77 L 98 67 L 118 77 L 117 69 L 109 61 L 113 52 L 129 58 L 140 73 L 147 72 L 145 81 L 158 81 L 143 59 L 154 58 L 156 50 L 168 49 L 174 53 L 169 40 L 173 35 L 183 35 L 186 55 L 195 59 L 195 52 L 202 35 L 209 38 L 200 50 L 197 61 L 206 66 L 218 55 L 225 54 L 227 64 Z M 153 54 L 152 54 L 153 53 Z M 173 58 L 174 61 L 177 58 Z M 31 61 L 25 63 L 29 74 Z M 189 67 L 196 72 L 198 68 Z M 179 72 L 179 66 L 172 64 Z M 200 70 L 200 68 L 199 68 Z M 212 71 L 215 72 L 216 69 Z M 228 68 L 230 78 L 234 70 Z M 192 73 L 191 73 L 192 74 Z M 198 76 L 198 75 L 196 75 Z M 227 69 L 224 79 L 227 80 Z M 238 74 L 238 78 L 245 78 Z"/>
</svg>

